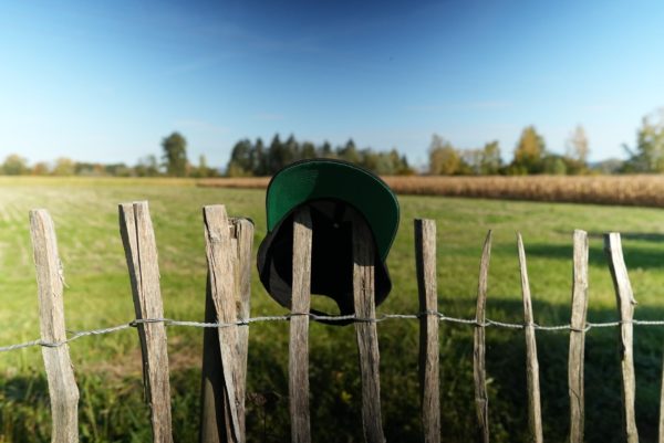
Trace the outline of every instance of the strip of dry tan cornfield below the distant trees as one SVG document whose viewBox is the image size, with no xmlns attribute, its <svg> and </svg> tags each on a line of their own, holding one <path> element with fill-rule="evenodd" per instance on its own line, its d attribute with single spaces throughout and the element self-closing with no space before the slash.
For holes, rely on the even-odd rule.
<svg viewBox="0 0 664 443">
<path fill-rule="evenodd" d="M 664 176 L 384 177 L 401 194 L 664 207 Z M 269 178 L 200 180 L 201 187 L 264 188 Z"/>
</svg>

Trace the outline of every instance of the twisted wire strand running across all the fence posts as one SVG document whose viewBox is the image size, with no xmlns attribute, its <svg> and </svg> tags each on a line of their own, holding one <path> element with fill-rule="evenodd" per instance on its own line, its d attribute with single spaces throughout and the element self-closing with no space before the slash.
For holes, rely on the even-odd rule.
<svg viewBox="0 0 664 443">
<path fill-rule="evenodd" d="M 81 337 L 112 334 L 112 333 L 117 333 L 117 331 L 124 330 L 124 329 L 135 328 L 135 327 L 138 327 L 139 325 L 146 325 L 146 324 L 153 324 L 153 323 L 163 323 L 165 326 L 184 326 L 184 327 L 195 327 L 195 328 L 227 328 L 227 327 L 231 327 L 231 326 L 249 326 L 253 323 L 288 321 L 288 320 L 290 320 L 291 317 L 295 317 L 295 316 L 308 316 L 312 320 L 325 321 L 325 323 L 333 323 L 333 321 L 347 323 L 349 320 L 351 320 L 353 323 L 381 323 L 381 321 L 391 320 L 391 319 L 418 319 L 418 318 L 422 318 L 422 317 L 428 316 L 428 315 L 437 316 L 438 320 L 442 323 L 471 325 L 471 326 L 476 326 L 476 327 L 498 327 L 498 328 L 506 328 L 506 329 L 523 329 L 526 326 L 532 326 L 532 328 L 535 328 L 537 330 L 546 330 L 546 331 L 570 330 L 570 331 L 578 331 L 578 333 L 588 333 L 590 329 L 593 329 L 593 328 L 610 328 L 610 327 L 616 327 L 616 326 L 620 326 L 623 324 L 622 321 L 605 321 L 605 323 L 588 321 L 583 329 L 572 328 L 572 326 L 569 324 L 543 326 L 543 325 L 538 325 L 538 324 L 533 323 L 530 325 L 526 325 L 522 323 L 498 321 L 498 320 L 491 320 L 488 318 L 485 320 L 484 324 L 480 324 L 475 318 L 449 317 L 443 313 L 428 312 L 428 310 L 422 312 L 418 314 L 382 314 L 375 318 L 362 318 L 362 317 L 356 317 L 355 315 L 331 316 L 331 315 L 317 315 L 317 314 L 310 314 L 310 313 L 291 313 L 291 314 L 287 314 L 287 315 L 271 315 L 271 316 L 241 318 L 241 319 L 238 319 L 237 321 L 231 321 L 231 323 L 203 323 L 203 321 L 189 321 L 189 320 L 174 320 L 170 318 L 144 318 L 144 319 L 135 319 L 135 320 L 132 320 L 132 321 L 123 324 L 123 325 L 112 326 L 112 327 L 107 327 L 107 328 L 68 331 L 69 334 L 71 334 L 71 336 L 66 340 L 62 340 L 62 341 L 44 341 L 44 340 L 38 339 L 38 340 L 32 340 L 32 341 L 25 341 L 22 344 L 2 346 L 2 347 L 0 347 L 0 352 L 8 352 L 8 351 L 23 349 L 23 348 L 30 348 L 30 347 L 34 347 L 34 346 L 40 346 L 40 347 L 44 347 L 44 348 L 58 348 L 58 347 L 64 346 L 66 344 L 70 344 L 71 341 L 77 340 Z M 632 325 L 636 325 L 636 326 L 664 326 L 664 320 L 636 320 L 635 319 L 630 323 Z"/>
</svg>

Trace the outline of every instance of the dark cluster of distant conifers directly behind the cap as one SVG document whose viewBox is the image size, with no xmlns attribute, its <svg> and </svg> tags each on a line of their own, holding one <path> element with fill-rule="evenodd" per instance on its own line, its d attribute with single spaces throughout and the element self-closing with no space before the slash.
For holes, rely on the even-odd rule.
<svg viewBox="0 0 664 443">
<path fill-rule="evenodd" d="M 382 176 L 415 173 L 406 156 L 401 155 L 396 149 L 390 151 L 359 149 L 352 139 L 349 139 L 345 145 L 332 148 L 328 141 L 315 146 L 311 141 L 298 141 L 292 135 L 282 141 L 279 134 L 274 135 L 269 146 L 264 146 L 261 138 L 257 138 L 256 141 L 246 138 L 236 143 L 226 173 L 229 177 L 271 176 L 293 161 L 311 158 L 345 160 Z"/>
</svg>

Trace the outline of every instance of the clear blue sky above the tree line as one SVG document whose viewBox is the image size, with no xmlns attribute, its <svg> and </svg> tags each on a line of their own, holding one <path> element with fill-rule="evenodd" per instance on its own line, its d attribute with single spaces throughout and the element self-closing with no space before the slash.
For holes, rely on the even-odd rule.
<svg viewBox="0 0 664 443">
<path fill-rule="evenodd" d="M 0 159 L 135 164 L 174 130 L 222 166 L 274 133 L 460 148 L 527 125 L 624 157 L 664 106 L 664 2 L 0 2 Z"/>
</svg>

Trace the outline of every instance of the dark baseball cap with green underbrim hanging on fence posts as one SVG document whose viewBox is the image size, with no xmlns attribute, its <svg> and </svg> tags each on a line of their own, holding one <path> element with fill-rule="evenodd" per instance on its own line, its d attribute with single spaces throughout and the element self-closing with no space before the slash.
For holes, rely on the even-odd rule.
<svg viewBox="0 0 664 443">
<path fill-rule="evenodd" d="M 352 223 L 362 218 L 372 233 L 375 302 L 381 304 L 392 288 L 385 260 L 398 228 L 398 202 L 374 173 L 331 159 L 289 165 L 268 186 L 268 234 L 258 250 L 258 272 L 270 296 L 291 307 L 293 214 L 302 205 L 311 213 L 311 293 L 334 299 L 341 315 L 354 313 Z"/>
</svg>

